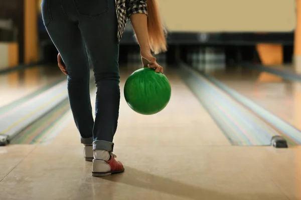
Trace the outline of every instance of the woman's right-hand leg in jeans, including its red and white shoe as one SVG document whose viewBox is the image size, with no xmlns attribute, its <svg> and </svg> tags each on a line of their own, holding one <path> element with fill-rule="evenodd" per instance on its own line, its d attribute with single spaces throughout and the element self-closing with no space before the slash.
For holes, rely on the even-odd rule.
<svg viewBox="0 0 301 200">
<path fill-rule="evenodd" d="M 107 4 L 102 7 L 104 2 Z M 77 0 L 76 7 L 80 14 L 78 26 L 89 52 L 97 87 L 92 175 L 105 176 L 124 171 L 122 163 L 112 154 L 120 101 L 118 24 L 114 0 L 94 3 Z"/>
</svg>

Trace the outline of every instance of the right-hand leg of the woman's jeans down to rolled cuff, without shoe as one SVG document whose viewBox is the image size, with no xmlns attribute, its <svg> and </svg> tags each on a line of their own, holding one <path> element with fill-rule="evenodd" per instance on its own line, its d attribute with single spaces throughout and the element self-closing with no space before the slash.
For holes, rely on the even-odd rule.
<svg viewBox="0 0 301 200">
<path fill-rule="evenodd" d="M 79 28 L 93 64 L 97 86 L 93 149 L 113 150 L 117 128 L 120 89 L 117 42 L 117 17 L 114 0 L 97 17 L 80 16 Z"/>
</svg>

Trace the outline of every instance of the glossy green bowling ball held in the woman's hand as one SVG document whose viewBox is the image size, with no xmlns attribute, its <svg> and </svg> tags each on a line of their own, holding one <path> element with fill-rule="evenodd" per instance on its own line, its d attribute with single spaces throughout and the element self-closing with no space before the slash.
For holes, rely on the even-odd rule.
<svg viewBox="0 0 301 200">
<path fill-rule="evenodd" d="M 152 68 L 134 71 L 124 85 L 124 98 L 129 107 L 145 115 L 163 110 L 171 98 L 171 93 L 168 78 Z"/>
</svg>

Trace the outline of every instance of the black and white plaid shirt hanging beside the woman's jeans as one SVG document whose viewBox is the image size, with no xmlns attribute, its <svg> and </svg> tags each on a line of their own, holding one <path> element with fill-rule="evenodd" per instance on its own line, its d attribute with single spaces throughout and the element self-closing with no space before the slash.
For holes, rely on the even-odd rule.
<svg viewBox="0 0 301 200">
<path fill-rule="evenodd" d="M 118 20 L 117 39 L 120 41 L 127 19 L 131 14 L 144 13 L 147 15 L 146 0 L 115 0 Z"/>
</svg>

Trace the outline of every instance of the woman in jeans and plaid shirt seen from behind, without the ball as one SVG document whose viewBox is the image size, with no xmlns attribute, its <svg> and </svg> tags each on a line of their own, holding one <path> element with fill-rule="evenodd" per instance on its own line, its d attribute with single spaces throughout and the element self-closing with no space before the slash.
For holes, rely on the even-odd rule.
<svg viewBox="0 0 301 200">
<path fill-rule="evenodd" d="M 59 67 L 68 75 L 69 102 L 84 156 L 93 161 L 92 175 L 123 172 L 112 153 L 120 101 L 118 44 L 130 18 L 143 67 L 163 72 L 151 52 L 167 49 L 156 0 L 43 0 L 41 8 L 44 25 L 59 51 Z M 88 56 L 97 86 L 95 121 Z"/>
</svg>

